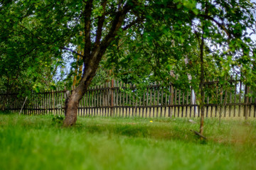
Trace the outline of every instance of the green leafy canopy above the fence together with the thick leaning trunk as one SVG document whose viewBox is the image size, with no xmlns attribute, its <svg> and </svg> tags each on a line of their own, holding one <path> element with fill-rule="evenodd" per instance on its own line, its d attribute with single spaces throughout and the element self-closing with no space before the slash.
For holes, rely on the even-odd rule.
<svg viewBox="0 0 256 170">
<path fill-rule="evenodd" d="M 80 56 L 73 65 L 82 65 L 82 74 L 66 101 L 65 125 L 75 123 L 99 65 L 128 72 L 132 81 L 153 75 L 174 82 L 174 72 L 179 83 L 201 85 L 238 72 L 255 86 L 253 13 L 255 3 L 246 0 L 1 1 L 0 81 L 41 84 L 67 52 Z"/>
</svg>

